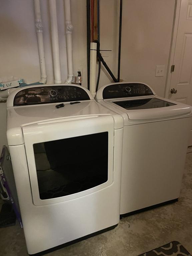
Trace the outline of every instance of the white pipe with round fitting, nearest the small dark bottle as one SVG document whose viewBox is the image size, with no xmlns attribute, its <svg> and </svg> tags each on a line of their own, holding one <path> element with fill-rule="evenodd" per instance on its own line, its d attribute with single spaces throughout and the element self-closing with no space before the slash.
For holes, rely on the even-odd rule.
<svg viewBox="0 0 192 256">
<path fill-rule="evenodd" d="M 64 0 L 65 3 L 65 33 L 66 33 L 66 45 L 67 45 L 67 66 L 68 66 L 68 78 L 66 83 L 71 83 L 73 77 L 73 54 L 72 54 L 72 31 L 73 25 L 71 24 L 71 10 L 70 0 Z"/>
</svg>

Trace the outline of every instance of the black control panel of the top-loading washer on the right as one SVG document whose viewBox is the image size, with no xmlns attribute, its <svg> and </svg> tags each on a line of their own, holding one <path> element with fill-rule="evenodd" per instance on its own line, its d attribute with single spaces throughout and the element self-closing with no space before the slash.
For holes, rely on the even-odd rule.
<svg viewBox="0 0 192 256">
<path fill-rule="evenodd" d="M 114 83 L 106 86 L 103 89 L 103 99 L 125 98 L 145 95 L 153 95 L 153 92 L 146 84 L 140 83 Z"/>
</svg>

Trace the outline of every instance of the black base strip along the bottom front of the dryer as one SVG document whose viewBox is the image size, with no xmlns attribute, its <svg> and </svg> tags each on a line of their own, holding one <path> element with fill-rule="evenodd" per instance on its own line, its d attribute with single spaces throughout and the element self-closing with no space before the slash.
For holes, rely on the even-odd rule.
<svg viewBox="0 0 192 256">
<path fill-rule="evenodd" d="M 42 252 L 38 252 L 38 253 L 35 253 L 35 254 L 29 254 L 29 255 L 31 255 L 31 256 L 41 256 L 41 255 L 47 254 L 47 253 L 49 253 L 49 252 L 53 252 L 53 251 L 59 250 L 59 249 L 64 248 L 64 247 L 66 247 L 66 246 L 69 246 L 69 245 L 78 243 L 78 242 L 83 241 L 83 240 L 85 240 L 85 239 L 88 239 L 88 238 L 90 238 L 90 237 L 93 237 L 93 236 L 102 234 L 102 233 L 104 233 L 104 232 L 106 232 L 106 231 L 112 230 L 112 229 L 114 229 L 115 227 L 117 227 L 117 225 L 118 225 L 118 224 L 113 225 L 113 226 L 108 227 L 108 228 L 104 228 L 104 229 L 99 230 L 99 231 L 97 231 L 97 232 L 94 232 L 94 233 L 92 233 L 92 234 L 89 234 L 89 235 L 80 237 L 80 238 L 78 238 L 78 239 L 75 239 L 75 240 L 73 240 L 73 241 L 67 242 L 67 243 L 65 243 L 65 244 L 61 244 L 61 245 L 55 246 L 55 247 L 50 248 L 50 249 L 48 249 L 48 250 L 45 250 L 45 251 L 42 251 Z"/>
</svg>

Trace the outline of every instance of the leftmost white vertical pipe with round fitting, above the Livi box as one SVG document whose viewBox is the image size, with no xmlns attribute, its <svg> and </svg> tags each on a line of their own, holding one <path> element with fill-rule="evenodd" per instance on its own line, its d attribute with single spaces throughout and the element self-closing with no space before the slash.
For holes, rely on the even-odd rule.
<svg viewBox="0 0 192 256">
<path fill-rule="evenodd" d="M 35 26 L 37 32 L 37 43 L 39 50 L 39 63 L 41 70 L 41 80 L 40 83 L 46 84 L 47 82 L 47 73 L 45 66 L 45 54 L 44 54 L 44 46 L 43 46 L 43 24 L 41 20 L 41 9 L 40 9 L 40 1 L 34 0 L 34 10 L 35 10 Z"/>
</svg>

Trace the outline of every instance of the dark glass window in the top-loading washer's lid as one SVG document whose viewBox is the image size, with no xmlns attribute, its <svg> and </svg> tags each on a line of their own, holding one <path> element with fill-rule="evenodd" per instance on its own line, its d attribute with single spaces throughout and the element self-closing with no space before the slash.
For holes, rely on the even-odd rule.
<svg viewBox="0 0 192 256">
<path fill-rule="evenodd" d="M 169 107 L 169 106 L 176 105 L 174 103 L 160 100 L 157 98 L 113 101 L 113 103 L 125 109 L 162 108 L 162 107 Z"/>
</svg>

